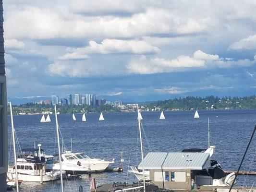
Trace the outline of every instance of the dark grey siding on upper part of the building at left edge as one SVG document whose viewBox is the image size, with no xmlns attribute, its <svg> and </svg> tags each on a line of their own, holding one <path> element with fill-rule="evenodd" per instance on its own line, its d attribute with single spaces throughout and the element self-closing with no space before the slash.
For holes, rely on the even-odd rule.
<svg viewBox="0 0 256 192">
<path fill-rule="evenodd" d="M 4 48 L 3 48 L 3 2 L 0 0 L 0 75 L 5 74 Z"/>
</svg>

